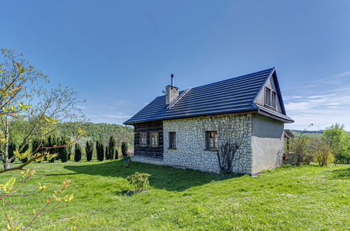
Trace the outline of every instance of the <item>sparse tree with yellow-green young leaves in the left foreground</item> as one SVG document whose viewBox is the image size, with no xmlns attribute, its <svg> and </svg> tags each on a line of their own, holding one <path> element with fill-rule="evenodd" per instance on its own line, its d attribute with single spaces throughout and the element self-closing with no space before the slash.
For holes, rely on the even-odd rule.
<svg viewBox="0 0 350 231">
<path fill-rule="evenodd" d="M 37 191 L 33 190 L 30 193 L 20 192 L 22 186 L 36 173 L 34 167 L 29 165 L 30 163 L 40 162 L 43 158 L 48 160 L 55 158 L 55 155 L 51 155 L 50 151 L 57 147 L 48 147 L 42 144 L 49 134 L 60 127 L 58 121 L 69 120 L 69 118 L 76 116 L 76 113 L 74 113 L 76 94 L 67 89 L 44 89 L 41 81 L 45 82 L 46 76 L 30 65 L 22 55 L 4 48 L 1 48 L 0 54 L 0 77 L 0 151 L 2 160 L 4 160 L 4 169 L 0 170 L 0 174 L 18 170 L 22 174 L 22 180 L 19 183 L 16 183 L 15 177 L 12 177 L 5 184 L 0 185 L 0 198 L 5 218 L 8 221 L 8 228 L 12 230 L 27 230 L 36 218 L 58 209 L 59 202 L 72 200 L 72 196 L 66 195 L 62 197 L 62 193 L 69 186 L 69 181 L 67 180 L 63 181 L 62 187 L 55 190 L 51 197 L 45 197 L 43 207 L 36 208 L 29 214 L 16 208 L 14 204 L 8 201 L 8 198 L 13 196 L 39 197 L 39 193 L 43 190 L 48 190 L 49 186 L 39 183 Z M 33 100 L 34 94 L 35 101 Z M 35 102 L 35 104 L 32 105 L 29 102 Z M 8 146 L 11 140 L 9 128 L 13 121 L 23 118 L 28 123 L 27 127 L 22 127 L 20 130 L 24 141 L 13 152 L 18 160 L 22 160 L 22 163 L 11 165 L 11 160 L 8 158 Z M 77 122 L 75 125 L 79 126 L 79 121 L 74 121 Z M 85 134 L 86 132 L 83 130 L 77 129 L 74 142 Z M 39 139 L 40 145 L 39 148 L 31 151 L 29 143 L 34 139 Z M 28 165 L 29 168 L 27 168 Z M 32 219 L 27 225 L 22 225 L 22 223 L 15 225 L 13 218 L 8 216 L 8 209 L 32 216 Z"/>
</svg>

